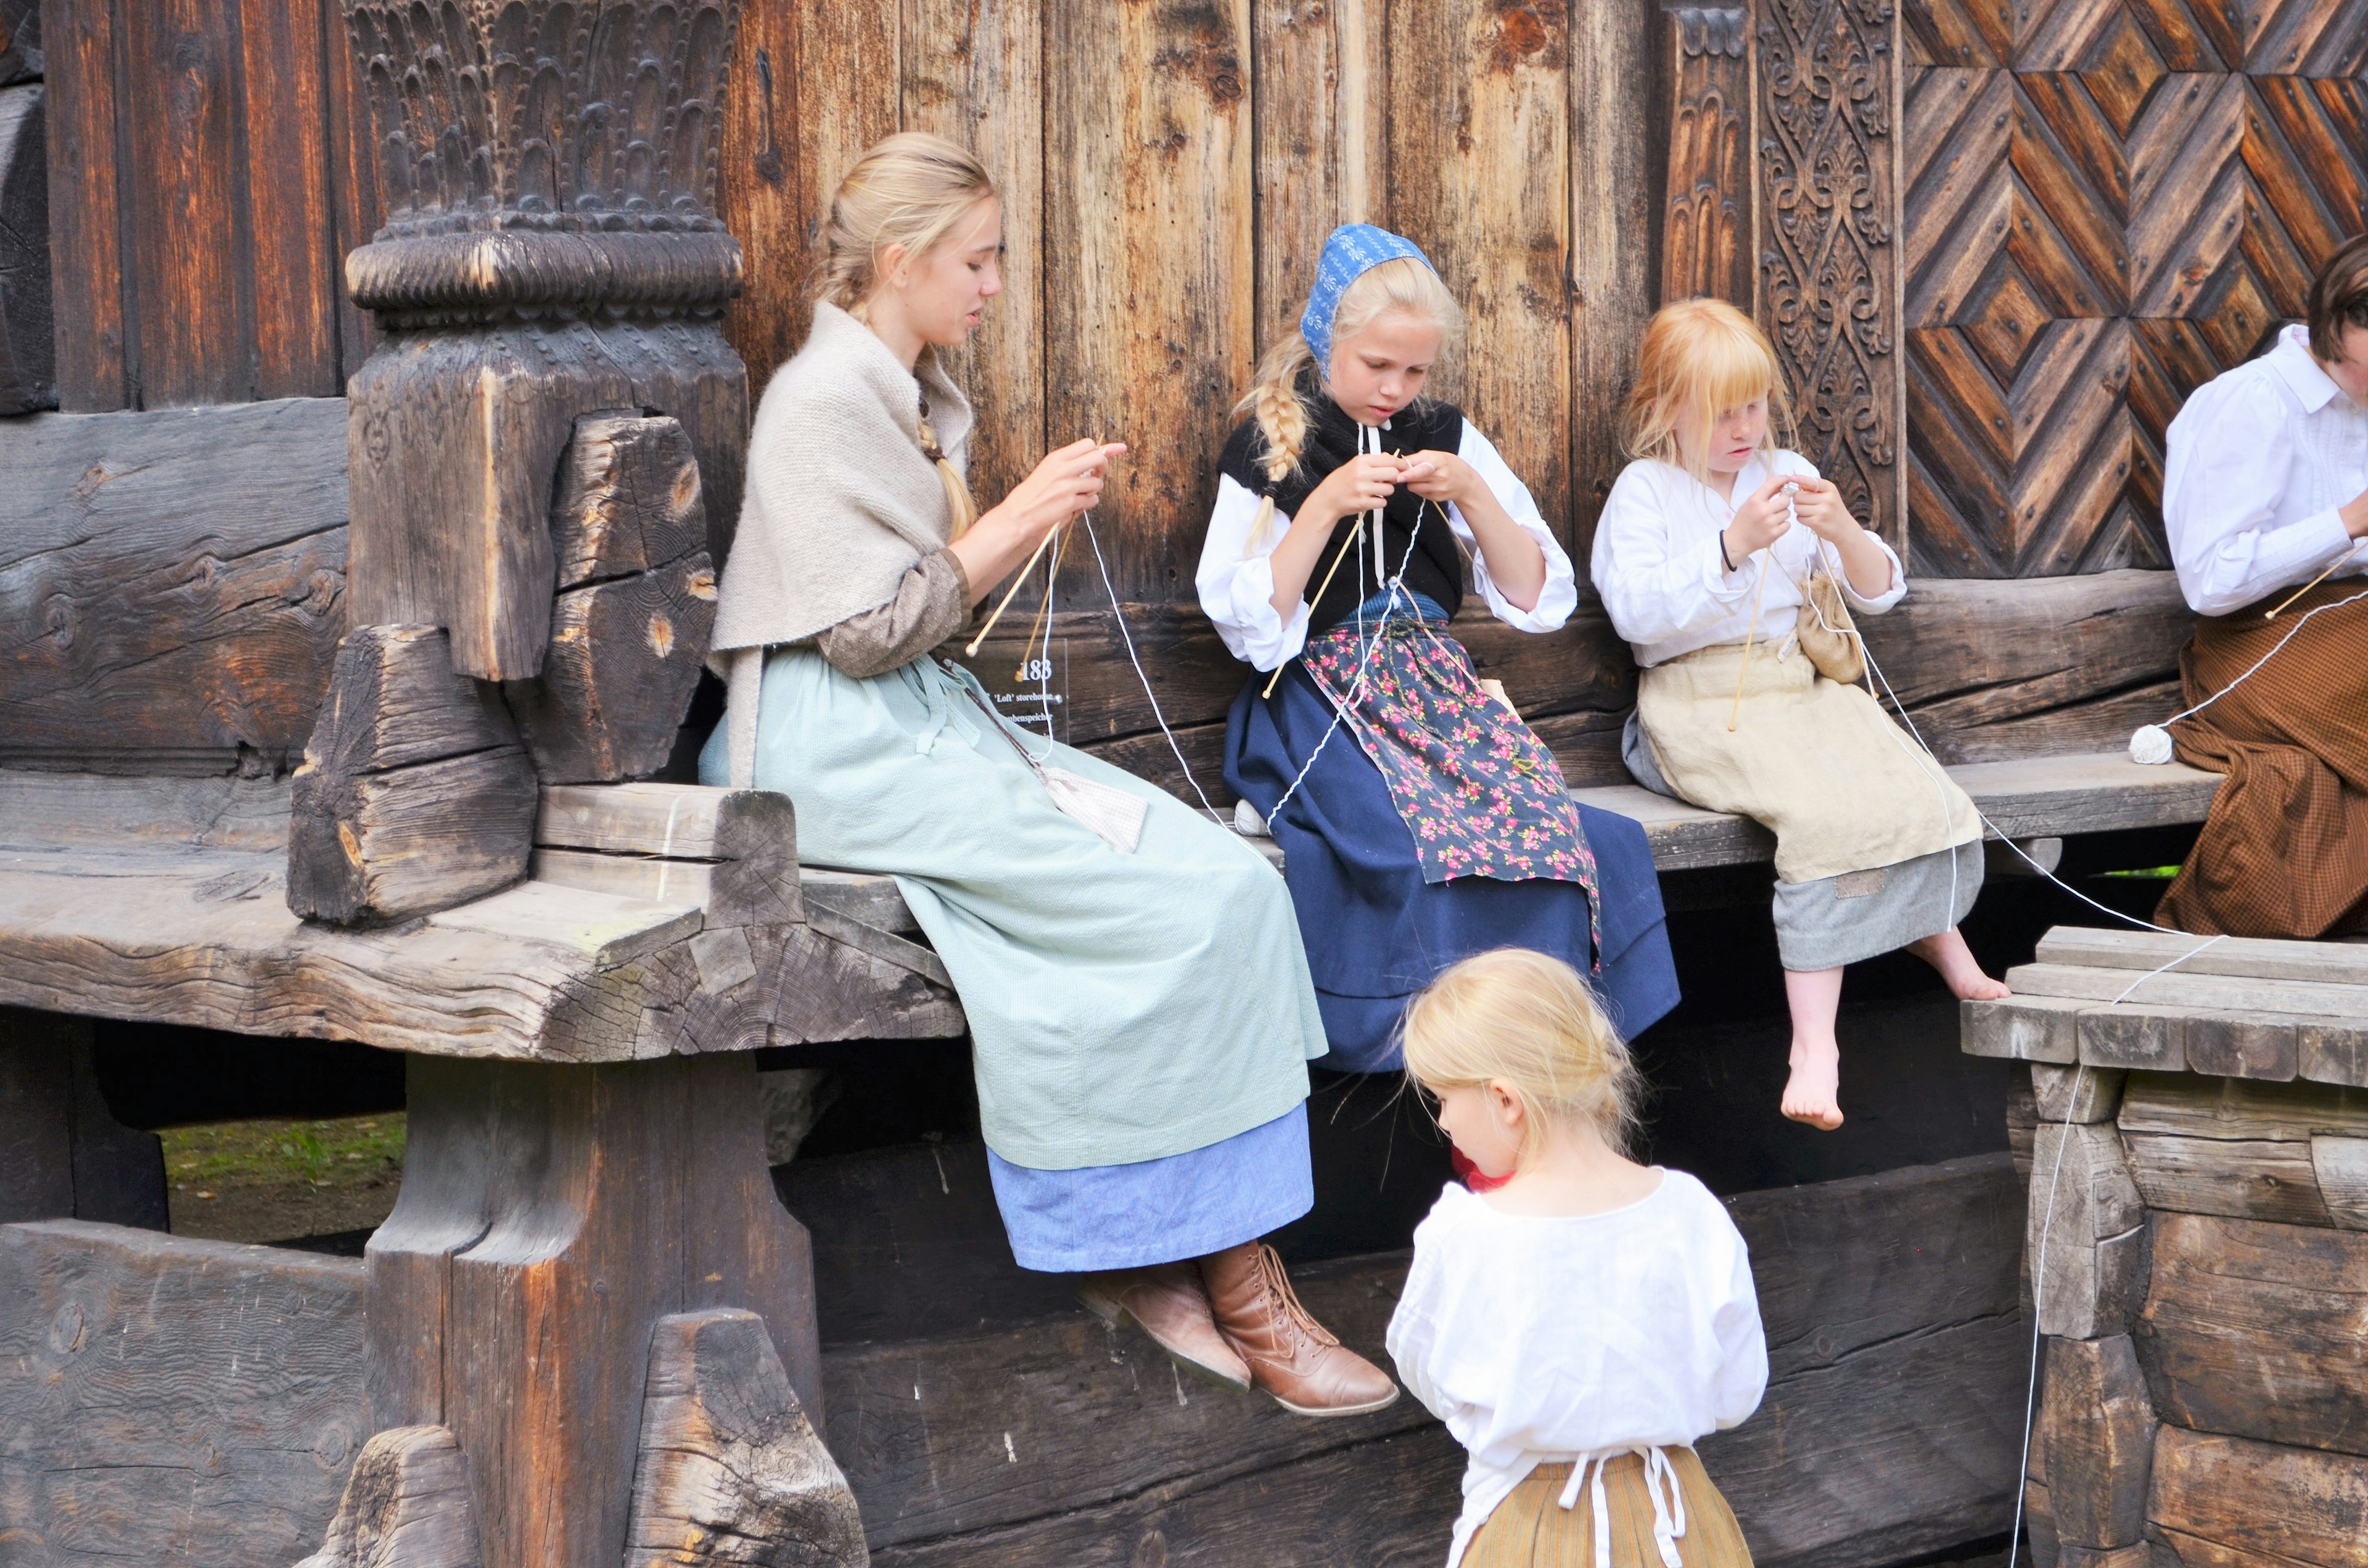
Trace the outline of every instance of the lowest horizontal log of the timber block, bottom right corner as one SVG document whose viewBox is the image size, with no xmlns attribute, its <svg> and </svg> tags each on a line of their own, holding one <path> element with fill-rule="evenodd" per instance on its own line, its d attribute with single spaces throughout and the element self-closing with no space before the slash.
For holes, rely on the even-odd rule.
<svg viewBox="0 0 2368 1568">
<path fill-rule="evenodd" d="M 2164 1426 L 2145 1516 L 2179 1568 L 2361 1568 L 2368 1464 Z"/>
</svg>

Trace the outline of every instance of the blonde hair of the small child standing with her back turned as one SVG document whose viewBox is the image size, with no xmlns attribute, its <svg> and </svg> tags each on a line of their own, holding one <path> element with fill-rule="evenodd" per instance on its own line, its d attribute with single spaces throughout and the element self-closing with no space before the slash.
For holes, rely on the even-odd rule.
<svg viewBox="0 0 2368 1568">
<path fill-rule="evenodd" d="M 1504 1080 L 1525 1116 L 1523 1158 L 1584 1120 L 1624 1151 L 1641 1078 L 1594 988 L 1563 959 L 1497 947 L 1454 964 L 1407 1007 L 1407 1075 L 1426 1090 Z"/>
</svg>

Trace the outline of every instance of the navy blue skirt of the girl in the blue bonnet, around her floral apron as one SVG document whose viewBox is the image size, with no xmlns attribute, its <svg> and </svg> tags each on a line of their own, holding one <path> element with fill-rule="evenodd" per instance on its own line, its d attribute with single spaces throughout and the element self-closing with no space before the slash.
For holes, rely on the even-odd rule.
<svg viewBox="0 0 2368 1568">
<path fill-rule="evenodd" d="M 1603 969 L 1594 971 L 1587 888 L 1575 881 L 1423 881 L 1414 834 L 1381 770 L 1345 727 L 1317 753 L 1281 815 L 1307 756 L 1331 727 L 1331 703 L 1293 661 L 1260 696 L 1255 675 L 1224 725 L 1224 782 L 1283 848 L 1307 969 L 1331 1054 L 1312 1066 L 1392 1073 L 1404 1066 L 1397 1018 L 1442 969 L 1489 947 L 1551 952 L 1589 976 L 1613 1026 L 1636 1037 L 1677 1007 L 1677 964 L 1660 907 L 1660 876 L 1643 827 L 1579 805 L 1603 898 Z"/>
</svg>

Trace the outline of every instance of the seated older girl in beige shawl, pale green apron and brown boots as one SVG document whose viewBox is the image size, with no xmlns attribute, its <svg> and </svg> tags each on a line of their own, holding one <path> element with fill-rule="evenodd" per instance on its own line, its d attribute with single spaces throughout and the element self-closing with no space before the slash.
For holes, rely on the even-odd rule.
<svg viewBox="0 0 2368 1568">
<path fill-rule="evenodd" d="M 1381 1409 L 1397 1386 L 1257 1241 L 1314 1201 L 1324 1026 L 1281 879 L 931 656 L 1125 448 L 1066 445 L 973 516 L 971 405 L 938 351 L 1002 289 L 1002 216 L 966 149 L 888 137 L 831 197 L 824 242 L 812 334 L 748 438 L 715 616 L 729 703 L 701 777 L 796 801 L 800 860 L 895 874 L 971 1021 L 1021 1267 L 1087 1274 L 1099 1315 L 1298 1414 Z M 1092 810 L 1070 815 L 1080 793 Z"/>
</svg>

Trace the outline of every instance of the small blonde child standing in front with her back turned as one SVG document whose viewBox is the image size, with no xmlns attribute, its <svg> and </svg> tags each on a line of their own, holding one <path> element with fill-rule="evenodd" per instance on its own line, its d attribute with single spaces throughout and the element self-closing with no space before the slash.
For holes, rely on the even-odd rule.
<svg viewBox="0 0 2368 1568">
<path fill-rule="evenodd" d="M 1750 1255 L 1627 1158 L 1636 1068 L 1568 964 L 1504 947 L 1407 1009 L 1407 1075 L 1485 1175 L 1414 1232 L 1397 1376 L 1471 1452 L 1449 1568 L 1748 1568 L 1693 1442 L 1769 1381 Z"/>
</svg>

